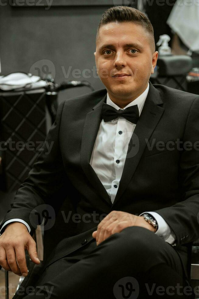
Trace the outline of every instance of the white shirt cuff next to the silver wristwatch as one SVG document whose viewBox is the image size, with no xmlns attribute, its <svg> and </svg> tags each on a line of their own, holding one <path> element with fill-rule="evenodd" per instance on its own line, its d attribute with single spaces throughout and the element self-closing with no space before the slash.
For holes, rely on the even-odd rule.
<svg viewBox="0 0 199 299">
<path fill-rule="evenodd" d="M 176 240 L 176 236 L 175 236 L 174 232 L 171 232 L 169 225 L 162 218 L 162 216 L 160 216 L 156 212 L 144 212 L 144 213 L 141 213 L 139 216 L 141 216 L 142 214 L 145 214 L 145 213 L 151 214 L 155 218 L 155 220 L 158 224 L 158 229 L 155 232 L 155 234 L 157 234 L 162 239 L 164 239 L 165 242 L 171 244 L 172 246 L 176 246 L 176 243 L 174 243 Z"/>
</svg>

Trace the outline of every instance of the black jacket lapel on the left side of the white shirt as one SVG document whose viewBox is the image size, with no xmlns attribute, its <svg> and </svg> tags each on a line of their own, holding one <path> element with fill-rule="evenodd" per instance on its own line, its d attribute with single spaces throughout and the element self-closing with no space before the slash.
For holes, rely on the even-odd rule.
<svg viewBox="0 0 199 299">
<path fill-rule="evenodd" d="M 106 93 L 107 95 L 107 93 Z M 80 163 L 83 171 L 89 182 L 93 185 L 94 189 L 97 190 L 98 194 L 111 206 L 111 200 L 101 183 L 100 179 L 96 175 L 96 172 L 90 165 L 90 159 L 93 152 L 97 133 L 102 121 L 101 117 L 101 106 L 103 102 L 106 102 L 106 95 L 103 99 L 93 107 L 93 110 L 86 115 L 86 120 L 82 133 L 82 146 L 80 153 Z"/>
</svg>

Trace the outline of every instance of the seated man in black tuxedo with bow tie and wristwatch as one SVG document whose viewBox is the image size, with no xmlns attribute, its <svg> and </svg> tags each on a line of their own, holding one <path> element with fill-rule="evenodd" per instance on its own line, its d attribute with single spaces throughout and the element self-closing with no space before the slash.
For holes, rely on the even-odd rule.
<svg viewBox="0 0 199 299">
<path fill-rule="evenodd" d="M 136 9 L 106 10 L 94 54 L 106 88 L 59 105 L 51 152 L 45 145 L 0 226 L 0 265 L 26 276 L 14 298 L 190 298 L 199 96 L 151 84 L 158 52 Z M 63 202 L 78 221 L 40 263 L 34 215 L 43 205 L 57 215 Z"/>
</svg>

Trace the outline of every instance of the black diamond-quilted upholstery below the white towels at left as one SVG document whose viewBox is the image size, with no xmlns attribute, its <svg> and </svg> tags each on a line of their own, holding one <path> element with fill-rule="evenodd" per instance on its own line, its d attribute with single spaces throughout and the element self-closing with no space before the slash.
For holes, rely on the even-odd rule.
<svg viewBox="0 0 199 299">
<path fill-rule="evenodd" d="M 0 93 L 1 189 L 4 191 L 12 192 L 19 188 L 41 152 L 39 147 L 46 137 L 45 101 L 45 89 L 40 89 L 40 92 Z M 19 141 L 24 142 L 23 150 L 20 150 L 22 145 L 17 143 Z M 27 142 L 31 150 L 27 149 Z"/>
</svg>

